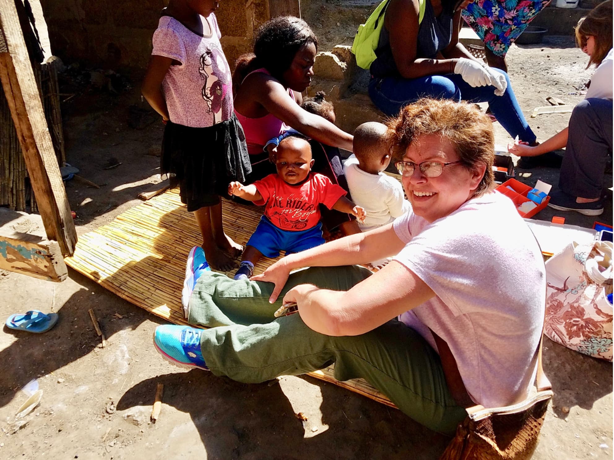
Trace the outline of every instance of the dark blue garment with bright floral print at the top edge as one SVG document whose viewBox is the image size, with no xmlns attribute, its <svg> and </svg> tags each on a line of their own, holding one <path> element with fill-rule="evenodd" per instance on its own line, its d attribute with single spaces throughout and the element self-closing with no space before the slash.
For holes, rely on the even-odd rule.
<svg viewBox="0 0 614 460">
<path fill-rule="evenodd" d="M 475 0 L 462 17 L 493 54 L 505 57 L 510 45 L 551 0 Z"/>
</svg>

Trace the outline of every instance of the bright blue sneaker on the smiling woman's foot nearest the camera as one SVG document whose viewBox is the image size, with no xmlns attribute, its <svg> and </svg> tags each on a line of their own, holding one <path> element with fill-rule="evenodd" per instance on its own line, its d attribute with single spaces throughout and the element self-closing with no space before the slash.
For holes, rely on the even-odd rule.
<svg viewBox="0 0 614 460">
<path fill-rule="evenodd" d="M 202 332 L 202 329 L 189 326 L 158 326 L 153 333 L 153 346 L 171 364 L 209 370 L 200 351 Z"/>
</svg>

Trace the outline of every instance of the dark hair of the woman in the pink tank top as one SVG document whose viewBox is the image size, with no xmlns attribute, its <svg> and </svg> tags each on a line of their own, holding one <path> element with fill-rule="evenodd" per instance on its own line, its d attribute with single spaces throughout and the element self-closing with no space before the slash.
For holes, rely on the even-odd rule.
<svg viewBox="0 0 614 460">
<path fill-rule="evenodd" d="M 305 21 L 293 16 L 268 20 L 256 31 L 254 52 L 239 56 L 233 73 L 233 87 L 238 88 L 250 72 L 264 67 L 276 79 L 290 68 L 301 47 L 317 38 Z"/>
</svg>

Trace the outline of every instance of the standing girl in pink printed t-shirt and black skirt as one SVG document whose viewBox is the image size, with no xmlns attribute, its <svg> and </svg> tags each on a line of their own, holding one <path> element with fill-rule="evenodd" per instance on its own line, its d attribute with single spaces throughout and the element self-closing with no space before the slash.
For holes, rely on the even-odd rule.
<svg viewBox="0 0 614 460">
<path fill-rule="evenodd" d="M 153 33 L 142 93 L 166 124 L 161 173 L 171 173 L 196 216 L 209 265 L 228 271 L 243 248 L 223 231 L 220 196 L 228 196 L 231 181 L 244 181 L 251 165 L 233 113 L 218 6 L 217 0 L 170 0 Z"/>
</svg>

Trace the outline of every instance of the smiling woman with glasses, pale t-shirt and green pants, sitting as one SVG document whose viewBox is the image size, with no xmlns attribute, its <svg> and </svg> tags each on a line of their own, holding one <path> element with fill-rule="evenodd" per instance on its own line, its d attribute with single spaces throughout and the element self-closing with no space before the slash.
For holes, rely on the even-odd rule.
<svg viewBox="0 0 614 460">
<path fill-rule="evenodd" d="M 422 99 L 388 127 L 413 210 L 251 280 L 195 272 L 188 323 L 210 328 L 158 326 L 163 358 L 244 383 L 335 363 L 336 379 L 365 378 L 446 434 L 465 407 L 526 399 L 546 274 L 529 227 L 493 190 L 492 122 L 469 103 Z M 373 274 L 354 265 L 387 256 Z M 282 303 L 298 314 L 274 318 Z"/>
</svg>

